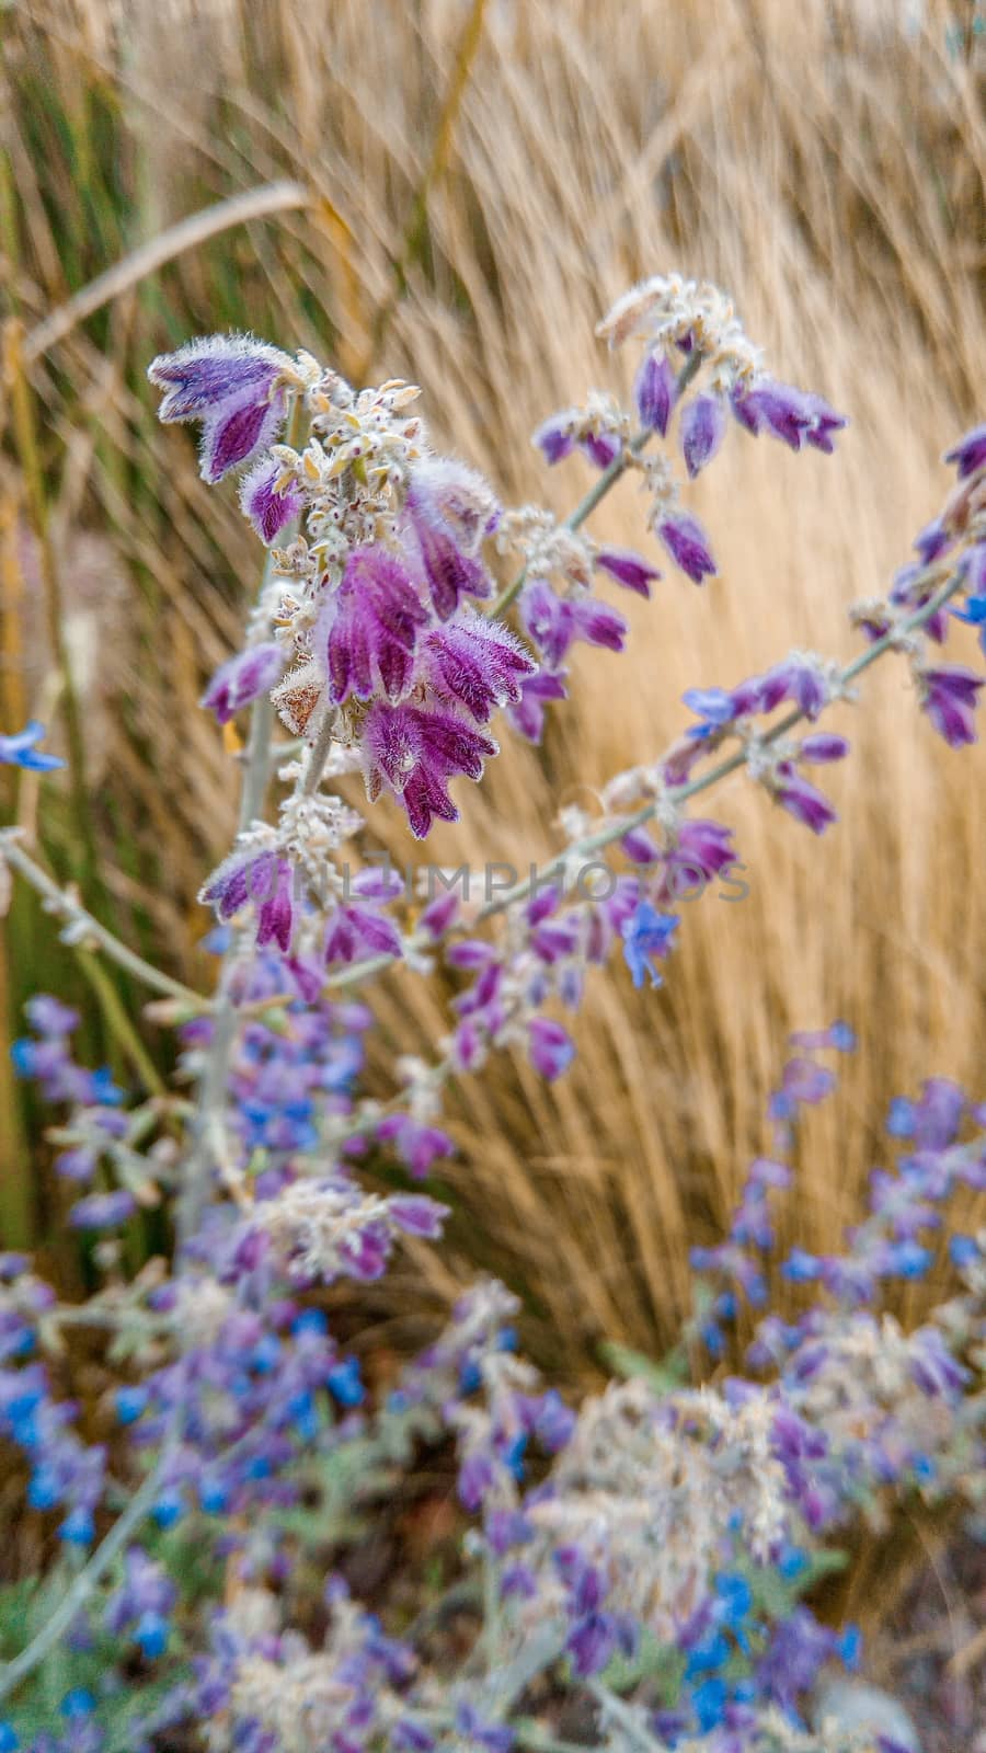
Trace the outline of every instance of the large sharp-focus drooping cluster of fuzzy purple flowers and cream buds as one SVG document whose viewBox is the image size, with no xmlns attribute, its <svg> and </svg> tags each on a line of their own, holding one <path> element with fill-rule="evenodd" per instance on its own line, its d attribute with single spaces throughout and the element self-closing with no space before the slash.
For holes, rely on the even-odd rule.
<svg viewBox="0 0 986 1753">
<path fill-rule="evenodd" d="M 519 640 L 470 607 L 493 589 L 489 486 L 430 451 L 411 384 L 354 393 L 311 358 L 242 337 L 191 342 L 151 379 L 167 389 L 161 419 L 202 421 L 207 480 L 253 465 L 240 503 L 263 542 L 300 526 L 261 605 L 268 631 L 258 617 L 205 703 L 226 720 L 279 684 L 291 729 L 323 727 L 353 750 L 370 799 L 393 794 L 419 836 L 435 817 L 454 822 L 449 780 L 481 777 L 497 743 L 479 726 L 535 671 Z M 291 398 L 309 428 L 298 449 L 274 442 Z M 300 663 L 281 680 L 291 647 Z M 237 905 L 268 880 L 267 866 L 247 868 Z M 228 887 L 207 898 L 233 910 Z"/>
</svg>

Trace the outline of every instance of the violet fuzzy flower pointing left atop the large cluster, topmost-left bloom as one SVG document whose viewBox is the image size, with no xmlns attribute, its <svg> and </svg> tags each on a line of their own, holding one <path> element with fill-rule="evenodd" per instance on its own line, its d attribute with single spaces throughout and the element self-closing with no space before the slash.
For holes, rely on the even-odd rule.
<svg viewBox="0 0 986 1753">
<path fill-rule="evenodd" d="M 158 419 L 202 421 L 202 479 L 216 482 L 274 444 L 293 370 L 286 352 L 251 335 L 209 335 L 160 354 L 147 377 L 165 391 Z"/>
</svg>

